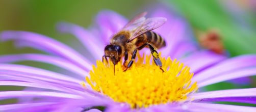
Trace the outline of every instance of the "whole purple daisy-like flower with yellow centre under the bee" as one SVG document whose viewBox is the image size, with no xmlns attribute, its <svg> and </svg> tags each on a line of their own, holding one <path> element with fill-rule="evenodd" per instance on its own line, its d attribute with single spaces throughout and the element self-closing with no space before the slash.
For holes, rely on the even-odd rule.
<svg viewBox="0 0 256 112">
<path fill-rule="evenodd" d="M 0 105 L 0 110 L 85 111 L 97 108 L 106 111 L 254 111 L 256 109 L 249 106 L 209 103 L 227 101 L 255 104 L 255 88 L 200 92 L 200 88 L 216 82 L 256 74 L 256 55 L 248 54 L 227 59 L 211 51 L 198 50 L 191 42 L 191 38 L 185 38 L 189 37 L 189 31 L 182 18 L 173 17 L 165 10 L 158 10 L 152 16 L 163 16 L 168 19 L 166 24 L 156 30 L 165 37 L 167 43 L 167 47 L 159 49 L 162 57 L 171 57 L 161 59 L 164 73 L 156 65 L 150 65 L 148 56 L 145 59 L 144 56 L 138 56 L 138 61 L 126 72 L 122 72 L 119 63 L 115 75 L 111 63 L 104 65 L 100 61 L 95 61 L 101 59 L 104 43 L 107 43 L 109 37 L 127 22 L 125 18 L 111 11 L 99 13 L 96 19 L 98 27 L 89 30 L 70 23 L 61 23 L 58 26 L 61 32 L 71 33 L 77 37 L 94 59 L 88 59 L 71 47 L 43 35 L 23 31 L 2 32 L 0 39 L 3 41 L 14 40 L 18 47 L 32 47 L 48 54 L 11 54 L 0 57 L 0 85 L 29 87 L 24 91 L 0 92 L 1 99 L 18 98 L 18 103 Z M 142 51 L 148 52 L 146 49 Z M 25 60 L 55 65 L 73 74 L 10 64 Z M 142 63 L 143 60 L 146 61 L 145 64 Z M 95 62 L 96 66 L 92 66 Z M 147 87 L 145 83 L 150 86 Z M 199 90 L 195 92 L 197 88 Z M 128 94 L 118 93 L 120 92 L 118 90 L 126 91 Z M 131 97 L 127 96 L 129 94 Z M 134 94 L 139 94 L 135 96 L 141 97 L 134 98 L 132 97 Z"/>
</svg>

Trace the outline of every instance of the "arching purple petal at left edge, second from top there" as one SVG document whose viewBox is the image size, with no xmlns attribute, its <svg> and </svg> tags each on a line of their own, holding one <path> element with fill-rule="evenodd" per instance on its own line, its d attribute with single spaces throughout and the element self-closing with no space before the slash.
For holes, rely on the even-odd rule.
<svg viewBox="0 0 256 112">
<path fill-rule="evenodd" d="M 1 55 L 0 63 L 12 63 L 19 61 L 37 61 L 48 63 L 51 65 L 56 65 L 58 67 L 64 68 L 66 70 L 72 71 L 82 77 L 85 77 L 88 71 L 83 70 L 82 68 L 73 65 L 65 59 L 54 57 L 45 54 L 14 54 L 14 55 Z"/>
</svg>

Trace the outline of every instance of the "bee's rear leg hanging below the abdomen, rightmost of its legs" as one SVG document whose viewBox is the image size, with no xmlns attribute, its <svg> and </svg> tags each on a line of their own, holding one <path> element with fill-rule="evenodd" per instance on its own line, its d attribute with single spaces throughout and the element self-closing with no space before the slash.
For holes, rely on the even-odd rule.
<svg viewBox="0 0 256 112">
<path fill-rule="evenodd" d="M 157 50 L 151 44 L 149 44 L 149 43 L 146 43 L 146 44 L 147 44 L 148 48 L 150 49 L 151 54 L 153 55 L 153 59 L 154 59 L 155 64 L 157 66 L 159 66 L 160 69 L 164 72 L 164 70 L 162 69 L 162 62 L 159 58 L 159 54 L 158 54 Z"/>
</svg>

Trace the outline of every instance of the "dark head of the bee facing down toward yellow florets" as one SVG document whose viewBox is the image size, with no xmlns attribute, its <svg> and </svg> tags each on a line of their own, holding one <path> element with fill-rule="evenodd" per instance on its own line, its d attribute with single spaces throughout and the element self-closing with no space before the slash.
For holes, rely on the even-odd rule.
<svg viewBox="0 0 256 112">
<path fill-rule="evenodd" d="M 111 62 L 116 65 L 121 59 L 122 49 L 120 45 L 107 45 L 105 55 L 108 55 Z"/>
</svg>

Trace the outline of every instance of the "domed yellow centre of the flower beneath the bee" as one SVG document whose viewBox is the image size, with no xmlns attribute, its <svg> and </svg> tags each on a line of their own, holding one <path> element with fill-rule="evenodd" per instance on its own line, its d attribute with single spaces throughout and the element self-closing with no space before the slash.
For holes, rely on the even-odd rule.
<svg viewBox="0 0 256 112">
<path fill-rule="evenodd" d="M 123 72 L 120 61 L 112 63 L 96 62 L 87 83 L 97 92 L 103 93 L 116 102 L 124 102 L 132 108 L 148 107 L 154 104 L 185 101 L 187 95 L 197 90 L 196 82 L 191 83 L 193 73 L 183 63 L 161 58 L 163 70 L 151 63 L 151 56 L 138 55 L 131 68 Z M 86 87 L 84 84 L 83 87 Z"/>
</svg>

